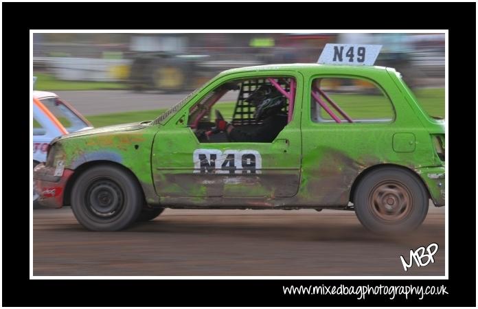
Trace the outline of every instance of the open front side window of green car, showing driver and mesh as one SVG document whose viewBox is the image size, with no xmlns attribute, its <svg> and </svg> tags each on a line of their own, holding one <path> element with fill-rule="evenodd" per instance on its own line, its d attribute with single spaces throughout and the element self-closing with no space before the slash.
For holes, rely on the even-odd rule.
<svg viewBox="0 0 478 309">
<path fill-rule="evenodd" d="M 201 143 L 271 143 L 292 121 L 296 87 L 288 77 L 226 82 L 190 108 L 188 126 Z"/>
</svg>

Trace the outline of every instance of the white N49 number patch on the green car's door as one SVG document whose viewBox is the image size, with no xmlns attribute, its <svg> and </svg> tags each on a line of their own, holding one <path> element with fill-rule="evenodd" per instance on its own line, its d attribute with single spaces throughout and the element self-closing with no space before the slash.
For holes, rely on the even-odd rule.
<svg viewBox="0 0 478 309">
<path fill-rule="evenodd" d="M 262 158 L 255 150 L 196 149 L 192 155 L 194 173 L 260 174 Z"/>
</svg>

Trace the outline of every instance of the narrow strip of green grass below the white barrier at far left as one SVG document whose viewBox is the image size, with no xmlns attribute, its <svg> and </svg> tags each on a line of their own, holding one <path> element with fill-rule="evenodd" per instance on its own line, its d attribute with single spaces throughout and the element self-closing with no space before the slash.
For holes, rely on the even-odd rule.
<svg viewBox="0 0 478 309">
<path fill-rule="evenodd" d="M 106 90 L 127 89 L 128 85 L 120 82 L 75 82 L 70 80 L 58 80 L 51 74 L 33 73 L 36 76 L 35 90 Z"/>
</svg>

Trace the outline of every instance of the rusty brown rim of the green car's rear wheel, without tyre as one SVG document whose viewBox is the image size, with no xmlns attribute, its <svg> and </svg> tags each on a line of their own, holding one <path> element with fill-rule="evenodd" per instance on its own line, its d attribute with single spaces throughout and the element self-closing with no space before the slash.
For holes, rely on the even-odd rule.
<svg viewBox="0 0 478 309">
<path fill-rule="evenodd" d="M 369 210 L 376 218 L 387 223 L 404 220 L 413 209 L 409 188 L 398 181 L 382 181 L 369 194 Z"/>
</svg>

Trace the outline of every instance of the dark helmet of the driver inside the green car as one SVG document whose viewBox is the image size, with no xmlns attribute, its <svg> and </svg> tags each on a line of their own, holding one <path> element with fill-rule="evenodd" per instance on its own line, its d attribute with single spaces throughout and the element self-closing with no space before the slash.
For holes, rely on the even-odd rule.
<svg viewBox="0 0 478 309">
<path fill-rule="evenodd" d="M 286 106 L 286 98 L 271 84 L 264 84 L 244 100 L 255 106 L 254 118 L 262 120 L 280 113 Z"/>
</svg>

